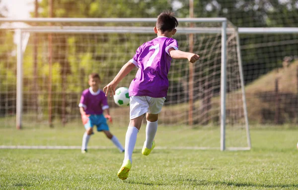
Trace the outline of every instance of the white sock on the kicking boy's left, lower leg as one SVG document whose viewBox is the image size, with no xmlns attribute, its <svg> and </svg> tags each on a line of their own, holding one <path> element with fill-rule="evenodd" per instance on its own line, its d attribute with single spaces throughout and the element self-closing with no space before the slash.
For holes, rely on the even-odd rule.
<svg viewBox="0 0 298 190">
<path fill-rule="evenodd" d="M 124 161 L 129 159 L 133 163 L 132 155 L 137 142 L 139 130 L 136 127 L 129 126 L 125 136 Z"/>
</svg>

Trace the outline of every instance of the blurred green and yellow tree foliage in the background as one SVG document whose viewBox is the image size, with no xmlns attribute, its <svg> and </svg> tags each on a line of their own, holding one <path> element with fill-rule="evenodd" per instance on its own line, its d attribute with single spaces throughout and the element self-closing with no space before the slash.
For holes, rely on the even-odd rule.
<svg viewBox="0 0 298 190">
<path fill-rule="evenodd" d="M 48 17 L 49 10 L 48 0 L 39 2 L 40 17 Z M 163 10 L 175 11 L 177 17 L 189 17 L 189 1 L 188 0 L 53 0 L 53 16 L 54 17 L 85 17 L 85 18 L 148 18 L 155 17 Z M 33 12 L 31 13 L 33 16 Z M 0 13 L 0 16 L 1 15 Z M 298 1 L 297 0 L 194 0 L 194 17 L 226 17 L 236 27 L 297 27 L 298 23 Z M 43 23 L 44 24 L 44 23 Z M 55 24 L 55 23 L 54 23 Z M 95 24 L 93 24 L 95 25 Z M 115 25 L 109 24 L 108 25 Z M 128 24 L 129 25 L 129 24 Z M 139 23 L 142 26 L 152 26 L 152 23 Z M 13 49 L 13 34 L 11 32 L 0 31 L 0 43 L 9 46 L 0 47 L 0 76 L 7 76 L 0 81 L 0 88 L 15 89 L 12 84 L 15 81 L 15 55 Z M 36 34 L 39 39 L 38 54 L 43 54 L 47 50 L 47 35 Z M 152 34 L 152 37 L 154 34 Z M 135 49 L 142 44 L 136 40 L 143 37 L 141 34 L 100 34 L 95 36 L 86 35 L 80 38 L 78 35 L 53 34 L 53 44 L 62 46 L 53 46 L 53 73 L 52 80 L 57 83 L 65 84 L 65 86 L 53 87 L 53 99 L 61 99 L 61 95 L 55 92 L 65 91 L 66 93 L 79 94 L 82 88 L 87 87 L 87 75 L 91 72 L 98 72 L 102 78 L 111 75 L 111 71 L 117 67 L 121 67 L 128 61 L 135 52 Z M 184 38 L 184 39 L 182 39 Z M 144 37 L 143 37 L 144 39 Z M 198 38 L 199 39 L 199 38 Z M 261 39 L 261 40 L 260 40 Z M 297 35 L 288 35 L 280 37 L 277 35 L 267 35 L 266 38 L 260 35 L 241 36 L 241 44 L 257 44 L 266 43 L 268 41 L 285 41 L 298 39 Z M 148 39 L 149 40 L 149 39 Z M 180 40 L 187 41 L 186 36 Z M 206 39 L 205 39 L 206 40 Z M 30 43 L 31 38 L 29 40 Z M 85 47 L 87 43 L 91 46 Z M 31 42 L 32 43 L 32 42 Z M 117 46 L 119 43 L 125 43 L 126 47 Z M 195 46 L 200 42 L 195 41 Z M 187 44 L 182 46 L 187 46 Z M 285 45 L 279 47 L 275 60 L 270 57 L 264 57 L 268 52 L 267 47 L 263 48 L 247 48 L 242 49 L 244 77 L 249 76 L 249 67 L 258 65 L 260 68 L 274 68 L 275 64 L 281 64 L 283 57 L 294 55 L 296 44 Z M 185 48 L 188 50 L 188 47 Z M 117 52 L 118 57 L 111 59 L 107 56 L 109 53 Z M 33 48 L 28 46 L 24 56 L 24 67 L 32 68 Z M 116 56 L 116 55 L 115 55 Z M 211 57 L 209 57 L 210 59 Z M 274 65 L 268 67 L 267 65 Z M 46 92 L 47 86 L 43 85 L 48 77 L 49 64 L 48 60 L 42 57 L 38 58 L 38 84 L 41 87 L 40 92 Z M 178 66 L 179 67 L 179 66 Z M 174 68 L 175 69 L 175 68 Z M 203 68 L 208 75 L 208 68 Z M 245 78 L 246 83 L 258 78 L 261 74 L 269 72 L 270 69 L 263 73 L 255 74 L 253 77 Z M 187 75 L 187 70 L 182 75 Z M 246 73 L 247 72 L 247 73 Z M 33 75 L 32 70 L 25 71 L 26 75 Z M 78 78 L 77 76 L 82 76 Z M 85 76 L 85 78 L 83 77 Z M 177 75 L 177 78 L 181 77 Z M 217 76 L 220 77 L 220 76 Z M 31 80 L 31 81 L 30 81 Z M 32 83 L 33 79 L 25 81 L 24 87 L 30 91 L 30 86 L 26 84 Z M 56 96 L 57 97 L 56 97 Z M 47 93 L 40 93 L 39 98 L 46 105 Z M 30 97 L 28 97 L 30 98 Z M 74 100 L 78 101 L 78 99 Z M 57 102 L 61 104 L 61 102 Z M 55 106 L 55 103 L 54 103 Z"/>
</svg>

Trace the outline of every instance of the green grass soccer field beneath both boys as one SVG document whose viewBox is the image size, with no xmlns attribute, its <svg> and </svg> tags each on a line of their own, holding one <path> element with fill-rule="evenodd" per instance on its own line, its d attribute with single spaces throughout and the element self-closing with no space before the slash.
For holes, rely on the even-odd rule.
<svg viewBox="0 0 298 190">
<path fill-rule="evenodd" d="M 160 127 L 155 139 L 156 149 L 144 156 L 138 148 L 145 139 L 145 128 L 141 129 L 133 167 L 126 181 L 117 178 L 124 155 L 103 134 L 96 133 L 90 146 L 106 148 L 93 148 L 87 154 L 81 154 L 79 149 L 0 149 L 0 189 L 298 189 L 298 130 L 251 130 L 252 149 L 248 151 L 162 149 L 194 145 L 200 139 L 196 130 L 180 130 L 181 133 L 177 133 L 178 128 Z M 16 142 L 28 142 L 26 133 L 31 134 L 32 143 L 42 142 L 45 136 L 41 131 L 47 134 L 48 140 L 58 135 L 57 139 L 63 142 L 63 137 L 68 137 L 68 141 L 74 141 L 69 144 L 77 146 L 83 133 L 76 128 L 0 129 L 0 144 L 7 144 L 11 136 Z M 125 131 L 114 130 L 123 144 Z"/>
</svg>

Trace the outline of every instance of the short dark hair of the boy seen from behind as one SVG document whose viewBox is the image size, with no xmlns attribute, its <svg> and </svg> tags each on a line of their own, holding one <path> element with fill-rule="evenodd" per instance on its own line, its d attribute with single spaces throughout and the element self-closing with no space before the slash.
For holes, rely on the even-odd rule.
<svg viewBox="0 0 298 190">
<path fill-rule="evenodd" d="M 172 31 L 178 26 L 178 21 L 171 11 L 163 11 L 157 17 L 156 28 L 161 32 Z"/>
</svg>

